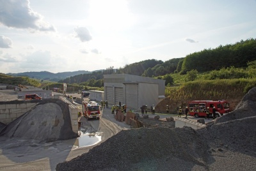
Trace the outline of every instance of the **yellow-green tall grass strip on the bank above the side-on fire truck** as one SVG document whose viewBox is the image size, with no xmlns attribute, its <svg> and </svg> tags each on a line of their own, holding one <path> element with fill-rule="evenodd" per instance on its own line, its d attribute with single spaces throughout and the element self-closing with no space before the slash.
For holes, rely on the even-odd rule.
<svg viewBox="0 0 256 171">
<path fill-rule="evenodd" d="M 166 87 L 166 96 L 172 101 L 223 100 L 244 96 L 250 87 L 256 86 L 256 78 L 231 80 L 196 80 L 177 87 Z M 203 99 L 202 99 L 203 98 Z"/>
</svg>

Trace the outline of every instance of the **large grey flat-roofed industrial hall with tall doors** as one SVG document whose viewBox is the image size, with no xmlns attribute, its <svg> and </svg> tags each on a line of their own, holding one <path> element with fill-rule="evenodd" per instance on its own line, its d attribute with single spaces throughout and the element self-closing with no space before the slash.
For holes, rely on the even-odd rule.
<svg viewBox="0 0 256 171">
<path fill-rule="evenodd" d="M 129 74 L 104 75 L 104 100 L 127 108 L 139 109 L 143 105 L 157 105 L 165 98 L 165 80 Z"/>
</svg>

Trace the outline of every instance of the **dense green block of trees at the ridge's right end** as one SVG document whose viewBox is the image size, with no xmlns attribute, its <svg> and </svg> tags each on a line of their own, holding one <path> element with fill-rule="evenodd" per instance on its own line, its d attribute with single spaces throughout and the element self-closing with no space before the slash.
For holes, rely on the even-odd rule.
<svg viewBox="0 0 256 171">
<path fill-rule="evenodd" d="M 220 45 L 215 49 L 205 49 L 200 52 L 189 54 L 185 57 L 181 70 L 178 72 L 186 74 L 187 71 L 198 72 L 220 70 L 234 66 L 243 68 L 248 62 L 256 60 L 256 40 L 241 40 L 234 45 Z"/>
</svg>

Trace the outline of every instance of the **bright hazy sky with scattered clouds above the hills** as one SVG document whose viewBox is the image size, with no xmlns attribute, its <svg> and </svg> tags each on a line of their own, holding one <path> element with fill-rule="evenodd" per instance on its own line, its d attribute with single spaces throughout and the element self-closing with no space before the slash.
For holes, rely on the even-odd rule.
<svg viewBox="0 0 256 171">
<path fill-rule="evenodd" d="M 95 71 L 256 38 L 256 0 L 0 0 L 0 73 Z"/>
</svg>

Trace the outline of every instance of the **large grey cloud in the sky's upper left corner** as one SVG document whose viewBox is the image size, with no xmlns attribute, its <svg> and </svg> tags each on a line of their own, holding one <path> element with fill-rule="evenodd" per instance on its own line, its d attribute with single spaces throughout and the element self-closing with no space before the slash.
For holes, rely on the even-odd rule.
<svg viewBox="0 0 256 171">
<path fill-rule="evenodd" d="M 55 31 L 51 24 L 42 20 L 42 15 L 30 8 L 29 0 L 0 0 L 0 4 L 0 22 L 7 27 Z"/>
</svg>

